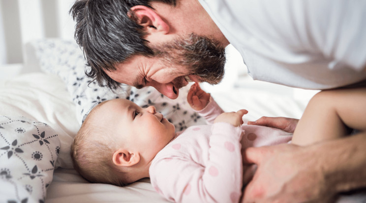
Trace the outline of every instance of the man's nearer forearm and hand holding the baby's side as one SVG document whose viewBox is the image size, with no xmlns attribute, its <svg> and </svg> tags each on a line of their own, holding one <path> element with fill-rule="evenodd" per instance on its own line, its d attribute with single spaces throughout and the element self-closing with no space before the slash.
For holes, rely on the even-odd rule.
<svg viewBox="0 0 366 203">
<path fill-rule="evenodd" d="M 243 202 L 327 202 L 339 192 L 366 186 L 366 133 L 300 147 L 248 148 L 258 165 Z"/>
</svg>

